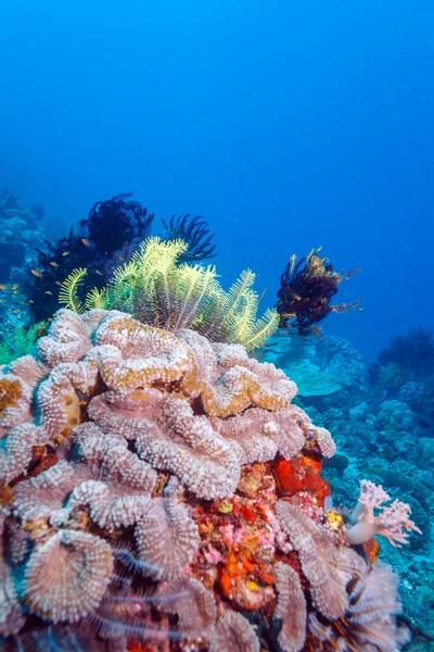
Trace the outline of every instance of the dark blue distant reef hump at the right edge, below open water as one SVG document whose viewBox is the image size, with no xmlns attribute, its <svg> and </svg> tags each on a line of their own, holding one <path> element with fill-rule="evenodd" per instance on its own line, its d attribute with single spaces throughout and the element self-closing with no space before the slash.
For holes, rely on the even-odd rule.
<svg viewBox="0 0 434 652">
<path fill-rule="evenodd" d="M 434 331 L 423 326 L 411 328 L 407 335 L 394 337 L 387 349 L 379 354 L 382 365 L 397 363 L 411 374 L 425 375 L 434 371 Z"/>
</svg>

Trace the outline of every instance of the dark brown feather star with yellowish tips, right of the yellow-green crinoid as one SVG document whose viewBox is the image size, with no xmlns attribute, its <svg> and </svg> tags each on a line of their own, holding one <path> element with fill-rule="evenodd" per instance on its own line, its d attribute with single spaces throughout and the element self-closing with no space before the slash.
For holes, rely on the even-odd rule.
<svg viewBox="0 0 434 652">
<path fill-rule="evenodd" d="M 311 333 L 318 335 L 318 324 L 332 312 L 347 312 L 350 308 L 361 310 L 359 300 L 350 304 L 331 305 L 340 284 L 358 269 L 341 274 L 334 272 L 329 259 L 319 255 L 320 251 L 321 249 L 312 249 L 298 262 L 292 255 L 280 278 L 277 304 L 280 326 L 294 327 L 302 336 Z"/>
</svg>

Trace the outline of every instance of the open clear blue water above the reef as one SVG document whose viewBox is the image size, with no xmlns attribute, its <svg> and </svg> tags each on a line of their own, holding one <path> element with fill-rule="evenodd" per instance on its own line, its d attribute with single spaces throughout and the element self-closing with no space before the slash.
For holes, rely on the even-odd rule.
<svg viewBox="0 0 434 652">
<path fill-rule="evenodd" d="M 432 0 L 3 0 L 0 184 L 66 225 L 133 190 L 201 213 L 275 300 L 322 244 L 369 359 L 433 326 Z"/>
</svg>

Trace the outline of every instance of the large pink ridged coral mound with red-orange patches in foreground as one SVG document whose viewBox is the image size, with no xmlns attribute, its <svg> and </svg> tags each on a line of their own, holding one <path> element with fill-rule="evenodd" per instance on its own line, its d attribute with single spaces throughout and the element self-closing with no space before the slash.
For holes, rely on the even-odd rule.
<svg viewBox="0 0 434 652">
<path fill-rule="evenodd" d="M 406 506 L 375 517 L 365 482 L 353 523 L 327 512 L 330 432 L 282 371 L 213 341 L 252 344 L 252 313 L 219 329 L 219 292 L 202 313 L 183 294 L 162 328 L 153 299 L 126 293 L 142 322 L 61 310 L 1 369 L 2 649 L 393 652 L 397 578 L 350 543 L 406 542 Z"/>
</svg>

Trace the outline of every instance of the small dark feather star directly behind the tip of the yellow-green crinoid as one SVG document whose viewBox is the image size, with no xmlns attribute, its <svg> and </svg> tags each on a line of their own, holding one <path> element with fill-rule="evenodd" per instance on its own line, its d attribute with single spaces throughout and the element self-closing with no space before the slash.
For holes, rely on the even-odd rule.
<svg viewBox="0 0 434 652">
<path fill-rule="evenodd" d="M 216 246 L 213 244 L 214 234 L 209 231 L 209 224 L 200 215 L 173 215 L 168 223 L 162 220 L 166 233 L 165 240 L 183 240 L 188 244 L 180 262 L 195 263 L 215 258 Z"/>
</svg>

